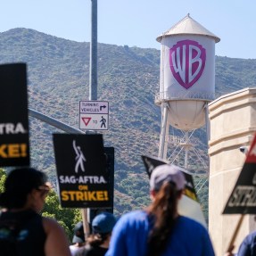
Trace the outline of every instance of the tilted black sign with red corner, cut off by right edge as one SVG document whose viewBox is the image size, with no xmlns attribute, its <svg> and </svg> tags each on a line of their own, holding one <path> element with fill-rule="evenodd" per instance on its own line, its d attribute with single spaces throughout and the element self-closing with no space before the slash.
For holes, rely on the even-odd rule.
<svg viewBox="0 0 256 256">
<path fill-rule="evenodd" d="M 256 213 L 256 136 L 254 136 L 243 169 L 230 194 L 223 214 Z"/>
</svg>

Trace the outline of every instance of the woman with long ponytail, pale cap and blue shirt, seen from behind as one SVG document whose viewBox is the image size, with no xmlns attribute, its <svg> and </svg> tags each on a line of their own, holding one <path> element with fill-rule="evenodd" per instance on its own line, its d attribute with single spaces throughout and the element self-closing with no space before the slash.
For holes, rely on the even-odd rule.
<svg viewBox="0 0 256 256">
<path fill-rule="evenodd" d="M 185 185 L 177 166 L 164 164 L 153 169 L 153 202 L 145 211 L 132 211 L 120 218 L 106 256 L 214 256 L 205 227 L 178 214 Z"/>
</svg>

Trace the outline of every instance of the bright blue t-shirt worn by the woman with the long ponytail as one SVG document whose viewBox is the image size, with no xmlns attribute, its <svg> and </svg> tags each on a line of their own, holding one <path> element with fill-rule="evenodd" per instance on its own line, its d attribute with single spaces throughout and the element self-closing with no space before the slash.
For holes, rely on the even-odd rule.
<svg viewBox="0 0 256 256">
<path fill-rule="evenodd" d="M 145 211 L 132 211 L 113 229 L 105 256 L 145 256 L 151 225 Z M 214 256 L 207 230 L 193 219 L 178 217 L 165 252 L 161 256 Z"/>
</svg>

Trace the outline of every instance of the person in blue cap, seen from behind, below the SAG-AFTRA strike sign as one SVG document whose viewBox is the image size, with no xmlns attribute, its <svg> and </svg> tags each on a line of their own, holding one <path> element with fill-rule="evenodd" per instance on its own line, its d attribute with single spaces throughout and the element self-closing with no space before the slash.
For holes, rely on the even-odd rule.
<svg viewBox="0 0 256 256">
<path fill-rule="evenodd" d="M 87 238 L 84 256 L 104 256 L 108 251 L 111 231 L 116 224 L 116 219 L 110 212 L 102 212 L 93 219 L 93 234 Z"/>
</svg>

